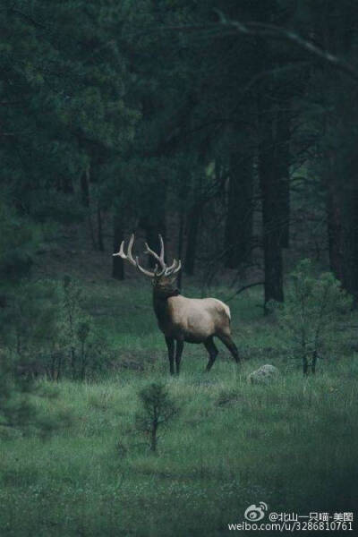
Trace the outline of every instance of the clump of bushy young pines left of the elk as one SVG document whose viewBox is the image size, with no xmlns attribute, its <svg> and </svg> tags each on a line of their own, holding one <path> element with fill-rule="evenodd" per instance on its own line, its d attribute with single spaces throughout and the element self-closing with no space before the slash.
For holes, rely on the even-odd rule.
<svg viewBox="0 0 358 537">
<path fill-rule="evenodd" d="M 0 344 L 22 375 L 85 379 L 107 363 L 107 338 L 81 307 L 81 286 L 22 280 L 0 309 Z"/>
</svg>

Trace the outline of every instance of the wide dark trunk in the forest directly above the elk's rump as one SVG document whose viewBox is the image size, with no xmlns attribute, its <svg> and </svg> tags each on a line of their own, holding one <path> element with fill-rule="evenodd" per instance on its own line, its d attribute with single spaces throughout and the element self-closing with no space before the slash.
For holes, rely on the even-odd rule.
<svg viewBox="0 0 358 537">
<path fill-rule="evenodd" d="M 251 260 L 252 247 L 252 157 L 236 149 L 230 156 L 230 178 L 225 230 L 227 268 L 238 268 Z"/>
</svg>

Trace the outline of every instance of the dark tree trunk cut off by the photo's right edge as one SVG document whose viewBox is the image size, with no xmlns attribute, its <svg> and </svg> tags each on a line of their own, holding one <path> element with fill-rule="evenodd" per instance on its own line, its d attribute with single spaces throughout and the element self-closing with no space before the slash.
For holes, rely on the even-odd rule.
<svg viewBox="0 0 358 537">
<path fill-rule="evenodd" d="M 327 4 L 318 27 L 321 42 L 333 54 L 349 57 L 353 53 L 353 34 L 344 25 L 337 24 L 339 4 Z M 332 21 L 335 21 L 332 24 Z M 329 24 L 328 21 L 331 21 Z M 327 190 L 327 224 L 329 264 L 335 277 L 348 293 L 358 300 L 358 165 L 356 143 L 357 115 L 353 103 L 356 87 L 345 85 L 338 72 L 326 67 L 324 82 L 329 91 L 324 93 L 326 108 L 323 125 L 323 167 Z M 343 91 L 344 89 L 344 91 Z M 344 96 L 344 98 L 343 98 Z M 327 138 L 326 138 L 327 137 Z"/>
</svg>

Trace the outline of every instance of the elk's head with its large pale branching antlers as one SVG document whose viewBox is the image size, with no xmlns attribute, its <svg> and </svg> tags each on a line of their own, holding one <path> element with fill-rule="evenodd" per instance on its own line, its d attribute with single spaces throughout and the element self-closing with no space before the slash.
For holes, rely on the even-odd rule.
<svg viewBox="0 0 358 537">
<path fill-rule="evenodd" d="M 168 267 L 164 260 L 164 243 L 163 237 L 159 234 L 160 242 L 160 254 L 149 248 L 148 243 L 145 243 L 145 252 L 146 254 L 151 255 L 157 262 L 153 270 L 148 270 L 147 268 L 141 267 L 138 256 L 133 257 L 132 247 L 134 243 L 134 234 L 131 235 L 127 253 L 124 253 L 124 241 L 122 241 L 120 249 L 117 253 L 114 253 L 114 256 L 120 256 L 122 259 L 127 260 L 133 265 L 133 267 L 138 268 L 142 274 L 151 278 L 151 282 L 154 286 L 155 292 L 162 297 L 171 296 L 173 294 L 178 294 L 179 292 L 174 287 L 176 274 L 182 268 L 181 260 L 173 260 L 173 263 Z"/>
</svg>

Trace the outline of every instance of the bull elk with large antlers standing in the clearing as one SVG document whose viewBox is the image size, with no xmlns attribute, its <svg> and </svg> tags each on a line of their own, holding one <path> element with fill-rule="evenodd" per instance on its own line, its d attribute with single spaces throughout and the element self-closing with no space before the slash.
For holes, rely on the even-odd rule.
<svg viewBox="0 0 358 537">
<path fill-rule="evenodd" d="M 217 358 L 214 337 L 218 337 L 233 355 L 235 362 L 240 362 L 239 353 L 231 337 L 230 309 L 216 298 L 187 298 L 180 294 L 175 286 L 176 275 L 182 268 L 181 260 L 173 260 L 168 267 L 164 258 L 163 238 L 159 234 L 160 254 L 145 243 L 145 253 L 156 260 L 154 270 L 140 265 L 138 257 L 133 258 L 132 234 L 127 253 L 124 253 L 124 241 L 113 255 L 129 261 L 142 274 L 151 278 L 153 284 L 153 307 L 158 320 L 158 327 L 166 337 L 170 374 L 179 374 L 184 343 L 203 343 L 209 353 L 206 371 L 210 371 Z M 175 345 L 176 344 L 176 345 Z"/>
</svg>

